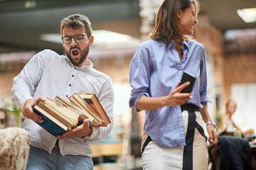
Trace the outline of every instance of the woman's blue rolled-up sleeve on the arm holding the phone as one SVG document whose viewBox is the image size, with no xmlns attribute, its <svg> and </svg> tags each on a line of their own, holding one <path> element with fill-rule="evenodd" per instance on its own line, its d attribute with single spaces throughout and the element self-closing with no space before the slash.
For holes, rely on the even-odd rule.
<svg viewBox="0 0 256 170">
<path fill-rule="evenodd" d="M 137 101 L 142 96 L 150 96 L 150 52 L 149 47 L 143 43 L 139 45 L 137 52 L 129 66 L 129 83 L 132 86 L 131 98 L 129 99 L 129 107 L 134 106 L 137 109 Z M 138 111 L 138 110 L 137 110 Z"/>
</svg>

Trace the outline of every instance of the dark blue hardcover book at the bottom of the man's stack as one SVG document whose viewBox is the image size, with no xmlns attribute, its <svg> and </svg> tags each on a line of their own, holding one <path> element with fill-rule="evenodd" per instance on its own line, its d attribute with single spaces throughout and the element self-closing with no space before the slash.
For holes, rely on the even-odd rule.
<svg viewBox="0 0 256 170">
<path fill-rule="evenodd" d="M 41 106 L 34 106 L 33 111 L 38 113 L 38 115 L 41 115 L 43 118 L 43 123 L 37 124 L 41 125 L 42 128 L 50 132 L 50 134 L 52 134 L 53 136 L 57 137 L 58 135 L 63 135 L 63 133 L 67 132 L 68 125 L 62 123 L 60 120 L 55 118 L 55 116 L 50 114 Z"/>
</svg>

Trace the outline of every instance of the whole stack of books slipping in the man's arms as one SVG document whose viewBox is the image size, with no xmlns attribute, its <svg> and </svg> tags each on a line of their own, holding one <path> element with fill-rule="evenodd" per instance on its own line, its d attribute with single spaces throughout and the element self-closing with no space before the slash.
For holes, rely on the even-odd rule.
<svg viewBox="0 0 256 170">
<path fill-rule="evenodd" d="M 38 123 L 52 135 L 63 135 L 88 119 L 91 126 L 105 126 L 110 118 L 102 108 L 95 94 L 73 94 L 69 98 L 55 96 L 46 98 L 33 106 L 33 111 L 43 117 L 43 123 Z"/>
</svg>

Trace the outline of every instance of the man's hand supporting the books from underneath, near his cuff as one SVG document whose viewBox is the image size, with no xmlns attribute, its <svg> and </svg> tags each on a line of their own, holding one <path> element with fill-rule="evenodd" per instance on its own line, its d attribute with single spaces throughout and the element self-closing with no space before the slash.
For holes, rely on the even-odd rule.
<svg viewBox="0 0 256 170">
<path fill-rule="evenodd" d="M 70 137 L 86 137 L 90 134 L 91 130 L 92 128 L 90 128 L 89 120 L 85 119 L 82 125 L 79 125 L 73 130 L 65 132 L 63 135 L 58 135 L 57 139 L 64 140 Z"/>
</svg>

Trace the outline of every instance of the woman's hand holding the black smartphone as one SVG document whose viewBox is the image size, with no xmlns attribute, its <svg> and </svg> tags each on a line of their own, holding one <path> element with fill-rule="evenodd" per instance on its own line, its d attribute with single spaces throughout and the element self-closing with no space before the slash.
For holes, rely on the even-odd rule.
<svg viewBox="0 0 256 170">
<path fill-rule="evenodd" d="M 189 101 L 193 98 L 192 93 L 181 93 L 183 89 L 186 88 L 190 84 L 189 81 L 179 86 L 180 81 L 176 85 L 175 89 L 171 91 L 171 94 L 166 96 L 166 103 L 167 106 L 177 106 L 177 105 L 183 105 L 186 103 L 186 101 Z"/>
</svg>

